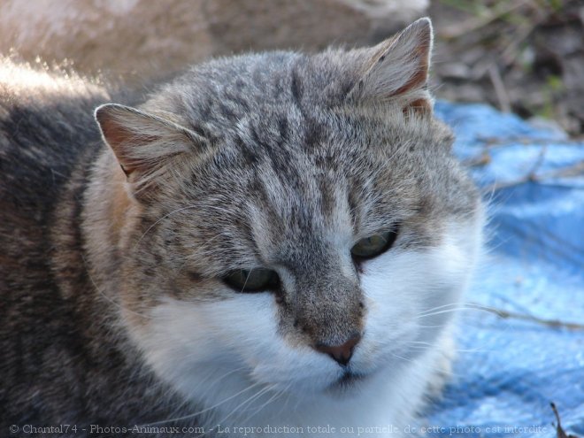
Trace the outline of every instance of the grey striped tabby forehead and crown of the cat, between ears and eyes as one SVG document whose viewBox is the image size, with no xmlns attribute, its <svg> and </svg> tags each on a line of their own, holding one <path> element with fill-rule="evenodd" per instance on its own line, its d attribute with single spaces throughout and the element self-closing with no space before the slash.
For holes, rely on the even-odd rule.
<svg viewBox="0 0 584 438">
<path fill-rule="evenodd" d="M 388 102 L 345 103 L 341 69 L 291 53 L 219 60 L 153 103 L 211 140 L 175 197 L 198 205 L 204 238 L 220 247 L 223 233 L 225 245 L 250 252 L 354 239 L 433 214 L 433 200 L 447 197 L 448 129 Z"/>
</svg>

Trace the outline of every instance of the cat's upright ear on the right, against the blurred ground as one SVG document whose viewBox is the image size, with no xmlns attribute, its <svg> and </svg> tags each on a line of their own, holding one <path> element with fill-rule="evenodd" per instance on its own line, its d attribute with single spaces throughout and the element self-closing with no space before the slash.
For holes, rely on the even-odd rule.
<svg viewBox="0 0 584 438">
<path fill-rule="evenodd" d="M 433 43 L 432 21 L 418 19 L 402 32 L 369 50 L 361 75 L 351 88 L 350 102 L 394 100 L 409 108 L 432 111 L 426 89 Z"/>
</svg>

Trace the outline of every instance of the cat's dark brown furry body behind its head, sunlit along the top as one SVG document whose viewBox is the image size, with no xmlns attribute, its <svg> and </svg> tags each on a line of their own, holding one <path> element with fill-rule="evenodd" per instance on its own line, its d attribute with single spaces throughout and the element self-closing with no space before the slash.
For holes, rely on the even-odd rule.
<svg viewBox="0 0 584 438">
<path fill-rule="evenodd" d="M 0 434 L 157 412 L 164 393 L 140 375 L 83 248 L 84 191 L 104 149 L 93 111 L 110 96 L 8 60 L 2 79 Z"/>
</svg>

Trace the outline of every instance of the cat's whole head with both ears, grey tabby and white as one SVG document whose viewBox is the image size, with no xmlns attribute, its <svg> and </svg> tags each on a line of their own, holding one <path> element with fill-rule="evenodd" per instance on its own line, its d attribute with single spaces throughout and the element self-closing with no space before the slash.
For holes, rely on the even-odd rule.
<svg viewBox="0 0 584 438">
<path fill-rule="evenodd" d="M 127 326 L 176 388 L 326 392 L 431 348 L 481 222 L 433 117 L 431 46 L 420 19 L 371 49 L 214 60 L 139 110 L 96 110 L 130 194 Z"/>
</svg>

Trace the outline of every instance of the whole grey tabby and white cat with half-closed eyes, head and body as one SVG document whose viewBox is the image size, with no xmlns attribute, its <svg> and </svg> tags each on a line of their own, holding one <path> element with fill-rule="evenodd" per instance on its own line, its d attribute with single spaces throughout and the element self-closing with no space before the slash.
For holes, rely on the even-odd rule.
<svg viewBox="0 0 584 438">
<path fill-rule="evenodd" d="M 2 433 L 408 434 L 483 220 L 431 47 L 219 58 L 135 107 L 4 59 Z"/>
</svg>

